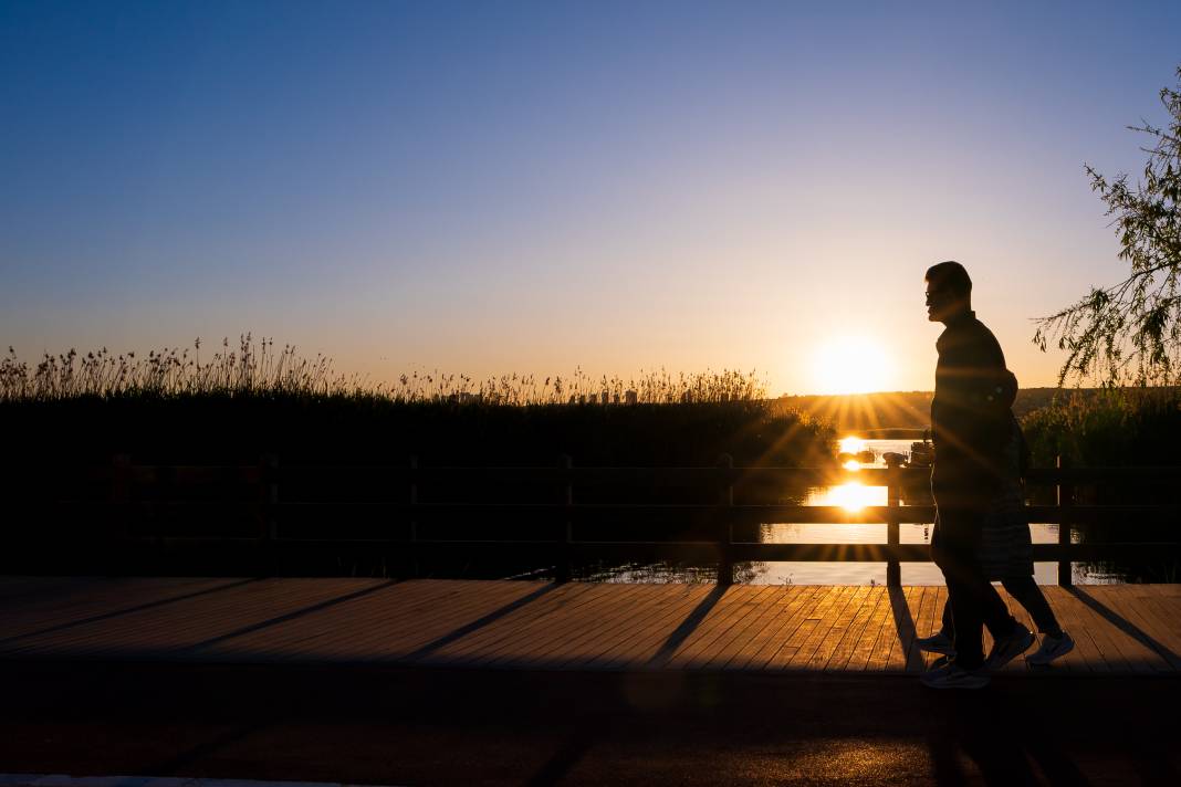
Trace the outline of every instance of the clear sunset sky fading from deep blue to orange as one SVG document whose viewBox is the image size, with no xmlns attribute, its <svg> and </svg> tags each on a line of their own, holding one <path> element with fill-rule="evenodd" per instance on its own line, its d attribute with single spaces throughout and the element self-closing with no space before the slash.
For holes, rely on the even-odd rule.
<svg viewBox="0 0 1181 787">
<path fill-rule="evenodd" d="M 1172 1 L 0 0 L 0 342 L 931 389 L 958 260 L 1053 385 L 1032 319 L 1125 264 L 1083 166 L 1142 169 L 1179 42 Z"/>
</svg>

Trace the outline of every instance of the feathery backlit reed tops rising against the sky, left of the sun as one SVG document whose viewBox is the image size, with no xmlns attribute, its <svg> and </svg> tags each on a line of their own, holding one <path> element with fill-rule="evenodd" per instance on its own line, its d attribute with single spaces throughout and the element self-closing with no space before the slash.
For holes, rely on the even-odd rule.
<svg viewBox="0 0 1181 787">
<path fill-rule="evenodd" d="M 441 372 L 402 374 L 392 382 L 372 381 L 335 370 L 324 355 L 304 358 L 293 345 L 275 348 L 273 339 L 224 339 L 202 361 L 201 340 L 193 348 L 115 354 L 105 347 L 50 355 L 35 365 L 14 348 L 0 359 L 0 401 L 52 401 L 115 396 L 354 396 L 394 404 L 458 402 L 465 405 L 672 405 L 686 402 L 751 402 L 766 398 L 766 382 L 755 372 L 724 369 L 639 376 L 593 378 L 581 368 L 569 376 L 504 374 L 475 379 Z"/>
</svg>

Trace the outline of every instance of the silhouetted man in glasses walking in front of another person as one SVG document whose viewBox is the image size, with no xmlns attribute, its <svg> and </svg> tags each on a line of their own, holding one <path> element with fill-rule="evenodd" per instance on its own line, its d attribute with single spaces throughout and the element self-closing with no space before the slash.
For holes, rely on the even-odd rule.
<svg viewBox="0 0 1181 787">
<path fill-rule="evenodd" d="M 981 627 L 996 642 L 988 667 L 999 668 L 1033 644 L 988 583 L 980 563 L 988 506 L 1004 478 L 1011 435 L 1011 375 L 997 337 L 972 310 L 972 280 L 958 262 L 941 262 L 926 275 L 927 319 L 946 326 L 935 342 L 935 395 L 931 435 L 935 461 L 931 492 L 935 499 L 932 558 L 944 572 L 955 622 L 955 656 L 922 676 L 932 688 L 987 686 Z"/>
</svg>

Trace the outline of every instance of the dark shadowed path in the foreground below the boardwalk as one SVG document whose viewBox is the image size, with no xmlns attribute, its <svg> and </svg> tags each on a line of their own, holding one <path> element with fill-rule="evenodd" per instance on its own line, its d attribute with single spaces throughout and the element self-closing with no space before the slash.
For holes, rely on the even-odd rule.
<svg viewBox="0 0 1181 787">
<path fill-rule="evenodd" d="M 0 662 L 0 772 L 379 785 L 1181 783 L 1181 680 Z"/>
</svg>

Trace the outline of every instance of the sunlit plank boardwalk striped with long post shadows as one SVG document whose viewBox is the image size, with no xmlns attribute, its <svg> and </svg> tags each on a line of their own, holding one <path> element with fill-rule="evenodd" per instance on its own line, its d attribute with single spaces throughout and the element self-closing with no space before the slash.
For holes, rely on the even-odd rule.
<svg viewBox="0 0 1181 787">
<path fill-rule="evenodd" d="M 1173 674 L 1181 585 L 1048 586 L 1052 668 Z M 919 673 L 941 586 L 0 577 L 0 660 Z M 1024 610 L 1010 608 L 1026 625 Z"/>
</svg>

